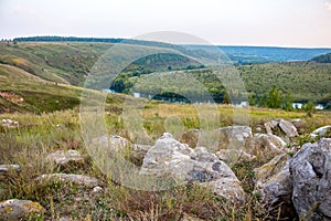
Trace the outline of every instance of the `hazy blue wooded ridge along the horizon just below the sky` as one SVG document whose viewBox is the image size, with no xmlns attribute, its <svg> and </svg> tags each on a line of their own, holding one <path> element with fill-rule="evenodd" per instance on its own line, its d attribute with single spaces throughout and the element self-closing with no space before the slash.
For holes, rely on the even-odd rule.
<svg viewBox="0 0 331 221">
<path fill-rule="evenodd" d="M 103 38 L 74 38 L 74 36 L 30 36 L 17 38 L 15 42 L 102 42 L 125 43 L 146 46 L 157 46 L 178 50 L 195 57 L 212 59 L 215 48 L 210 45 L 174 45 L 163 42 L 142 41 L 132 39 L 103 39 Z M 300 48 L 275 48 L 275 46 L 226 46 L 218 48 L 231 61 L 238 64 L 254 64 L 268 62 L 310 61 L 311 59 L 331 53 L 331 49 L 300 49 Z"/>
</svg>

